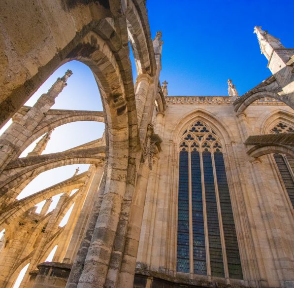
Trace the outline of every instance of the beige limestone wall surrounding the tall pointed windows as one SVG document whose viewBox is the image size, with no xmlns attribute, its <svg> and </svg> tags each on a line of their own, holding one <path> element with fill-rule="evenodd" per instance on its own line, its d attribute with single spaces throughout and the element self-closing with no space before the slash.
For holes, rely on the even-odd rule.
<svg viewBox="0 0 294 288">
<path fill-rule="evenodd" d="M 168 99 L 168 97 L 167 97 Z M 169 104 L 163 119 L 162 152 L 150 172 L 137 269 L 178 277 L 176 214 L 178 141 L 187 124 L 202 120 L 222 139 L 229 190 L 243 269 L 243 281 L 230 284 L 285 287 L 294 280 L 294 211 L 281 184 L 272 155 L 250 157 L 243 144 L 249 135 L 265 134 L 280 117 L 293 118 L 293 109 L 279 103 L 256 102 L 236 116 L 230 103 Z M 284 115 L 284 116 L 283 116 Z M 286 116 L 285 116 L 286 115 Z M 269 128 L 267 128 L 269 129 Z M 196 280 L 209 277 L 181 275 Z M 221 279 L 213 281 L 224 282 Z M 288 284 L 287 284 L 288 283 Z M 291 285 L 292 285 L 291 284 Z"/>
</svg>

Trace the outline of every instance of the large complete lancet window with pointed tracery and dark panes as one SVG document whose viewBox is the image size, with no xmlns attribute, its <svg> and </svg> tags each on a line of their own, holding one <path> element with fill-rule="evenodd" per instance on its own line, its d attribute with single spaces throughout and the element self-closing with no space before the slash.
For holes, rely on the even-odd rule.
<svg viewBox="0 0 294 288">
<path fill-rule="evenodd" d="M 201 121 L 179 144 L 177 271 L 243 279 L 222 143 Z"/>
</svg>

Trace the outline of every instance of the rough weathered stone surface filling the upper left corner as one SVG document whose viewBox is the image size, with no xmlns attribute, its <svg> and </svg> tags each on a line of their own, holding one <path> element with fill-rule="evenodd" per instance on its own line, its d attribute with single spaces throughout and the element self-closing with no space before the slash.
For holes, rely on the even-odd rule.
<svg viewBox="0 0 294 288">
<path fill-rule="evenodd" d="M 122 47 L 123 43 L 120 40 L 124 31 L 118 29 L 117 35 L 113 33 L 115 28 L 107 27 L 108 20 L 112 19 L 110 17 L 121 16 L 120 6 L 120 1 L 112 3 L 110 7 L 108 0 L 53 0 L 37 5 L 30 2 L 26 9 L 18 6 L 12 11 L 8 3 L 3 5 L 3 13 L 13 13 L 15 17 L 8 17 L 3 26 L 3 33 L 11 45 L 2 46 L 0 53 L 3 55 L 1 74 L 5 74 L 0 83 L 0 89 L 3 89 L 0 93 L 0 122 L 12 116 L 28 100 L 44 79 L 47 79 L 64 60 L 68 52 L 90 31 L 95 31 L 110 42 L 116 42 L 112 47 Z M 36 23 L 38 25 L 35 25 Z M 33 28 L 35 33 L 32 32 Z M 5 55 L 9 56 L 9 61 Z M 9 74 L 5 73 L 5 70 L 9 71 Z"/>
</svg>

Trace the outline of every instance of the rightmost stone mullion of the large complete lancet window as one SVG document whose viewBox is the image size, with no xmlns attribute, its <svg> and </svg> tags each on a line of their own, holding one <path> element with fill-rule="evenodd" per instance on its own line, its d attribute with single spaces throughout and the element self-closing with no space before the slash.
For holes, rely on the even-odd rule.
<svg viewBox="0 0 294 288">
<path fill-rule="evenodd" d="M 216 177 L 214 153 L 211 153 L 211 160 L 212 160 L 213 179 L 214 179 L 214 186 L 215 186 L 215 196 L 216 196 L 216 203 L 217 203 L 218 216 L 219 216 L 219 226 L 220 226 L 220 234 L 221 234 L 225 277 L 226 277 L 227 284 L 229 284 L 229 268 L 228 268 L 227 253 L 226 253 L 225 235 L 224 235 L 224 229 L 223 229 L 221 202 L 220 202 L 219 188 L 218 188 L 218 182 L 217 182 L 217 177 Z"/>
</svg>

